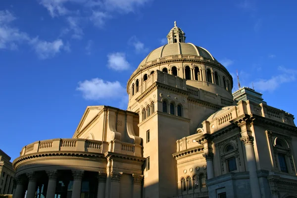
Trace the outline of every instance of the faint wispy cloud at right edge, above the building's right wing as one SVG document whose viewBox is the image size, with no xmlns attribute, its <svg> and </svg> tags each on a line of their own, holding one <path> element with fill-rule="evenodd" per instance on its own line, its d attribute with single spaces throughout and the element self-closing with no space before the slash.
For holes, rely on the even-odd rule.
<svg viewBox="0 0 297 198">
<path fill-rule="evenodd" d="M 272 92 L 279 88 L 281 84 L 296 80 L 297 70 L 286 69 L 284 67 L 278 67 L 278 70 L 279 75 L 272 76 L 270 79 L 260 79 L 254 82 L 255 89 L 260 92 Z"/>
</svg>

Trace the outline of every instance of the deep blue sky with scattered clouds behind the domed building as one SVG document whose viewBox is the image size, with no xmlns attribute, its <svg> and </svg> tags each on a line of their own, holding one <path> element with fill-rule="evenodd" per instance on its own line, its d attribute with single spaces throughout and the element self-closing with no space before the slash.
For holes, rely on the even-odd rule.
<svg viewBox="0 0 297 198">
<path fill-rule="evenodd" d="M 88 105 L 127 107 L 126 83 L 177 25 L 241 84 L 297 115 L 297 1 L 1 0 L 1 145 L 71 138 Z M 237 87 L 235 79 L 234 87 Z M 3 141 L 4 140 L 4 141 Z"/>
</svg>

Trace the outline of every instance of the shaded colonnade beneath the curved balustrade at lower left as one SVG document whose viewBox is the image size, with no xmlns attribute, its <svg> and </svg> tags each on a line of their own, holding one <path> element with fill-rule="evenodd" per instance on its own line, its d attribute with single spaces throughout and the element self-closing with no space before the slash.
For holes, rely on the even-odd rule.
<svg viewBox="0 0 297 198">
<path fill-rule="evenodd" d="M 46 174 L 45 174 L 46 173 Z M 69 198 L 67 195 L 71 192 L 71 198 L 80 198 L 86 189 L 86 185 L 82 184 L 88 181 L 88 191 L 84 198 L 119 198 L 120 196 L 120 178 L 122 173 L 110 174 L 107 180 L 107 174 L 104 172 L 91 172 L 83 170 L 68 171 L 48 170 L 38 172 L 28 172 L 26 174 L 16 176 L 16 189 L 13 198 Z M 69 174 L 70 173 L 70 174 Z M 85 175 L 87 173 L 87 175 Z M 117 177 L 115 177 L 115 175 Z M 133 198 L 141 198 L 142 175 L 133 174 Z M 48 178 L 48 179 L 47 179 Z M 105 192 L 106 181 L 109 181 L 108 192 Z M 59 185 L 59 188 L 58 186 Z M 70 187 L 70 188 L 69 188 Z M 70 190 L 69 190 L 70 189 Z M 115 194 L 115 192 L 117 192 Z M 41 194 L 43 196 L 41 196 Z M 92 196 L 90 196 L 92 194 Z"/>
</svg>

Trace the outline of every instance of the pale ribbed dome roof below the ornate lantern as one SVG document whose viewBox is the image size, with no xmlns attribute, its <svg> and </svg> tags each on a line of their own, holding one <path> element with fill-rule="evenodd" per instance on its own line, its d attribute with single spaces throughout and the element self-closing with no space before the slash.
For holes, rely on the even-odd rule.
<svg viewBox="0 0 297 198">
<path fill-rule="evenodd" d="M 196 55 L 217 61 L 206 49 L 195 46 L 191 43 L 166 44 L 160 48 L 152 50 L 148 56 L 140 63 L 143 65 L 158 58 L 172 55 Z"/>
</svg>

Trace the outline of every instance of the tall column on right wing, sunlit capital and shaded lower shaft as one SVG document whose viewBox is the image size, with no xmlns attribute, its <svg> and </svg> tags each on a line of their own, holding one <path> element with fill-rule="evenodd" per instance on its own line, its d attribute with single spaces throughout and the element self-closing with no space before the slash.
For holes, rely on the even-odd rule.
<svg viewBox="0 0 297 198">
<path fill-rule="evenodd" d="M 245 144 L 246 155 L 247 155 L 247 169 L 249 172 L 249 185 L 251 190 L 252 198 L 260 198 L 260 186 L 257 175 L 256 161 L 253 150 L 253 137 L 250 135 L 243 136 L 241 140 Z"/>
</svg>

